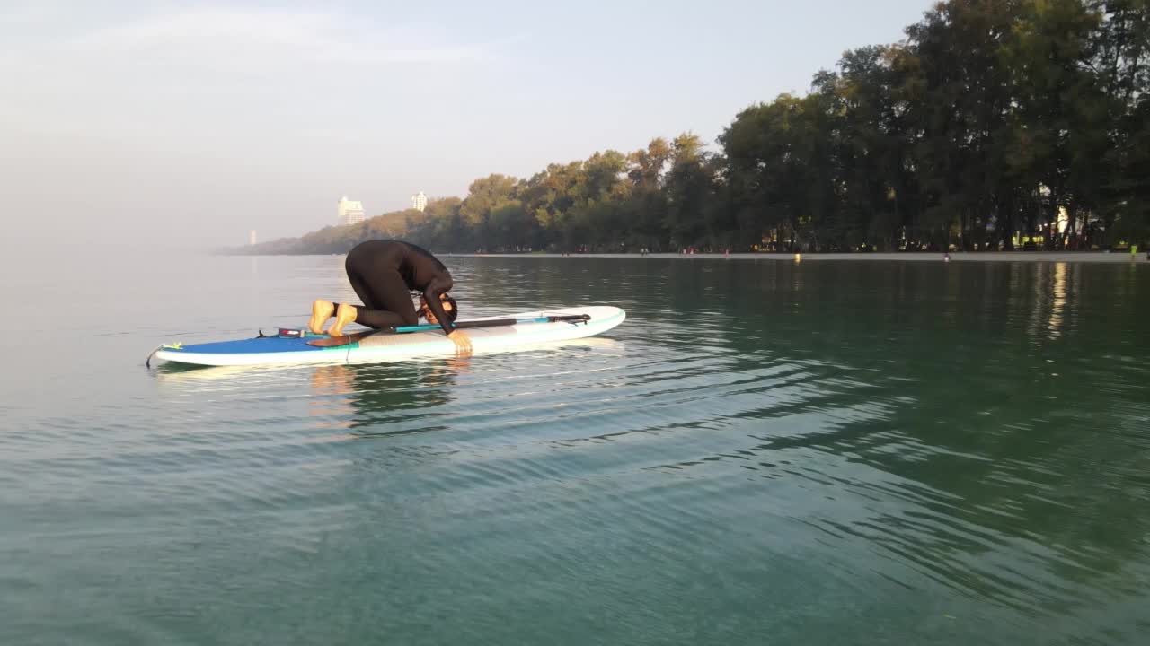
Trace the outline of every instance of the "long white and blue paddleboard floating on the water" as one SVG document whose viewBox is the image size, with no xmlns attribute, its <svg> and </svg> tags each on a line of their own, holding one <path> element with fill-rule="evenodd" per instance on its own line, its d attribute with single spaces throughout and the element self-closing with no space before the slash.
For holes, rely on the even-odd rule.
<svg viewBox="0 0 1150 646">
<path fill-rule="evenodd" d="M 592 306 L 527 312 L 468 321 L 530 320 L 577 314 L 585 314 L 588 320 L 550 323 L 524 322 L 498 328 L 474 328 L 466 330 L 466 332 L 471 339 L 474 354 L 515 352 L 538 347 L 540 344 L 601 334 L 622 323 L 627 317 L 627 314 L 618 307 Z M 455 355 L 455 344 L 443 333 L 443 330 L 404 333 L 379 332 L 352 344 L 332 347 L 317 347 L 308 343 L 320 338 L 327 337 L 322 334 L 293 338 L 273 336 L 207 344 L 172 344 L 159 348 L 154 356 L 163 361 L 193 366 L 261 366 L 273 363 L 377 363 Z"/>
</svg>

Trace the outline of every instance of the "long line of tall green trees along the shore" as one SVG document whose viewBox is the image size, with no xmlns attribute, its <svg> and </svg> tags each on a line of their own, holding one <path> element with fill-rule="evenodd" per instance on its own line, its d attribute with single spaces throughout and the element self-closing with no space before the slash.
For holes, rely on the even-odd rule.
<svg viewBox="0 0 1150 646">
<path fill-rule="evenodd" d="M 803 97 L 250 248 L 1109 248 L 1150 236 L 1150 0 L 948 0 Z"/>
</svg>

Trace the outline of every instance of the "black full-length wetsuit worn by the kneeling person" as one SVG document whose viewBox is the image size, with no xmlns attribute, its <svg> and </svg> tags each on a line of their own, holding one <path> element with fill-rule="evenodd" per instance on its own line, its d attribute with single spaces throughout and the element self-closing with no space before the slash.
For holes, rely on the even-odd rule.
<svg viewBox="0 0 1150 646">
<path fill-rule="evenodd" d="M 400 240 L 368 240 L 347 252 L 344 261 L 352 289 L 363 300 L 355 307 L 355 322 L 375 328 L 415 325 L 419 315 L 411 292 L 427 300 L 443 331 L 452 325 L 443 310 L 439 294 L 452 286 L 451 272 L 427 249 Z"/>
</svg>

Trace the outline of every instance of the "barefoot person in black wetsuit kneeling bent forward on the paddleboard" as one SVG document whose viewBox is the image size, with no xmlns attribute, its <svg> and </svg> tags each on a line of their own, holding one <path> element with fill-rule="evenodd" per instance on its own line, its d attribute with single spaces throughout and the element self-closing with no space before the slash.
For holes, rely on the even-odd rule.
<svg viewBox="0 0 1150 646">
<path fill-rule="evenodd" d="M 332 316 L 336 321 L 327 333 L 339 337 L 353 321 L 382 330 L 415 325 L 422 315 L 428 323 L 443 328 L 459 354 L 470 354 L 471 340 L 452 325 L 459 308 L 447 295 L 453 285 L 451 272 L 430 252 L 401 240 L 368 240 L 347 252 L 344 269 L 363 305 L 342 302 L 337 308 L 331 301 L 316 300 L 308 323 L 313 333 L 324 333 L 323 325 Z M 419 312 L 412 302 L 413 291 L 421 294 Z"/>
</svg>

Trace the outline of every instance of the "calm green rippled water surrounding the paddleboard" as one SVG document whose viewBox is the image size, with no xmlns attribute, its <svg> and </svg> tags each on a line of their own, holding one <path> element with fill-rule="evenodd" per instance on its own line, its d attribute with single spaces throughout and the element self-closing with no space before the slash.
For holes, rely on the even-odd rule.
<svg viewBox="0 0 1150 646">
<path fill-rule="evenodd" d="M 1145 643 L 1150 267 L 445 260 L 629 318 L 146 370 L 342 257 L 6 271 L 67 316 L 0 338 L 0 644 Z"/>
</svg>

